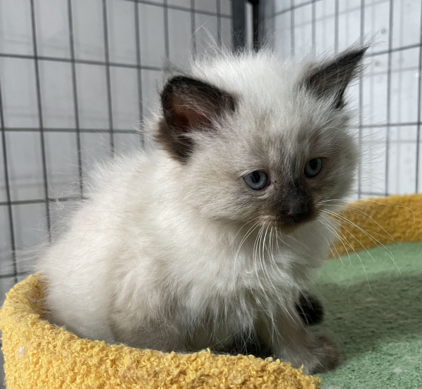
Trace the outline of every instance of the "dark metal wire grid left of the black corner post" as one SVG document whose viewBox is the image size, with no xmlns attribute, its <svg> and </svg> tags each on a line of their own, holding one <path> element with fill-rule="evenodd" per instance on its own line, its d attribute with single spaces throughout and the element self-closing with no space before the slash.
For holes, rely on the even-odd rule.
<svg viewBox="0 0 422 389">
<path fill-rule="evenodd" d="M 134 12 L 134 26 L 135 26 L 135 42 L 136 42 L 136 63 L 116 63 L 110 60 L 110 29 L 108 26 L 108 3 L 110 1 L 102 1 L 102 18 L 103 18 L 103 45 L 104 45 L 104 60 L 89 60 L 77 58 L 75 55 L 75 20 L 74 12 L 72 11 L 72 6 L 75 6 L 75 0 L 66 0 L 68 8 L 68 39 L 70 47 L 70 56 L 69 58 L 62 58 L 56 56 L 42 56 L 39 54 L 39 44 L 37 42 L 37 32 L 40 28 L 37 25 L 36 20 L 36 6 L 37 0 L 28 0 L 30 1 L 30 20 L 32 28 L 32 55 L 26 55 L 21 53 L 8 53 L 0 52 L 0 58 L 18 58 L 23 60 L 30 60 L 34 63 L 34 75 L 35 75 L 35 89 L 37 96 L 37 121 L 38 125 L 36 127 L 7 127 L 4 113 L 4 94 L 2 93 L 2 82 L 4 80 L 0 77 L 0 126 L 1 126 L 1 144 L 3 151 L 3 164 L 4 164 L 4 186 L 6 199 L 0 201 L 0 210 L 7 210 L 7 219 L 10 234 L 10 248 L 11 248 L 11 272 L 1 272 L 0 281 L 5 284 L 4 288 L 7 289 L 10 284 L 17 282 L 23 276 L 27 275 L 27 271 L 20 271 L 18 269 L 18 258 L 16 257 L 15 250 L 18 244 L 16 242 L 16 222 L 13 212 L 15 211 L 15 206 L 17 205 L 31 205 L 31 204 L 44 204 L 45 212 L 45 226 L 44 229 L 48 234 L 51 231 L 51 205 L 65 202 L 72 202 L 73 200 L 79 200 L 84 196 L 84 168 L 83 168 L 83 148 L 82 148 L 82 134 L 106 134 L 108 135 L 108 143 L 110 147 L 110 154 L 114 155 L 115 153 L 115 136 L 116 134 L 134 134 L 134 136 L 139 136 L 139 144 L 143 144 L 143 136 L 139 134 L 138 130 L 133 128 L 126 129 L 116 129 L 113 127 L 113 100 L 112 100 L 112 90 L 111 90 L 111 79 L 110 79 L 110 70 L 115 68 L 129 68 L 136 70 L 136 79 L 133 81 L 136 83 L 137 93 L 138 93 L 138 120 L 141 122 L 143 120 L 143 115 L 145 114 L 144 104 L 142 101 L 143 98 L 143 77 L 142 70 L 162 70 L 158 66 L 145 65 L 141 62 L 141 56 L 143 55 L 141 51 L 141 29 L 140 29 L 140 20 L 139 20 L 139 8 L 140 5 L 148 5 L 157 8 L 162 8 L 164 13 L 164 37 L 165 37 L 165 58 L 170 56 L 170 37 L 169 37 L 169 10 L 177 11 L 188 11 L 191 13 L 191 39 L 193 42 L 192 52 L 193 55 L 196 55 L 198 51 L 197 37 L 196 32 L 198 27 L 196 25 L 196 15 L 204 15 L 205 17 L 217 18 L 217 44 L 222 45 L 222 20 L 231 21 L 231 15 L 227 11 L 229 9 L 228 0 L 216 0 L 216 12 L 206 11 L 203 7 L 201 9 L 196 8 L 196 1 L 198 0 L 187 0 L 187 1 L 175 1 L 175 0 L 162 0 L 162 1 L 147 1 L 147 0 L 114 0 L 114 1 L 125 1 L 133 4 Z M 178 5 L 181 4 L 181 5 Z M 189 4 L 190 3 L 190 4 Z M 202 1 L 204 3 L 204 1 Z M 222 13 L 223 3 L 225 6 L 225 13 Z M 1 6 L 1 4 L 0 4 Z M 206 8 L 206 6 L 205 6 Z M 0 8 L 1 11 L 1 8 Z M 227 38 L 227 37 L 225 37 Z M 230 39 L 230 37 L 229 37 Z M 229 42 L 229 39 L 225 39 L 226 42 Z M 226 43 L 227 44 L 227 43 Z M 70 63 L 71 66 L 71 83 L 72 83 L 72 99 L 73 99 L 73 115 L 75 118 L 75 127 L 69 128 L 51 128 L 47 127 L 44 123 L 44 112 L 43 112 L 43 96 L 41 91 L 40 84 L 40 61 L 49 61 L 52 63 Z M 105 128 L 87 128 L 87 126 L 82 126 L 80 123 L 80 107 L 79 107 L 79 98 L 78 98 L 78 83 L 77 83 L 77 65 L 99 65 L 105 68 L 106 70 L 106 100 L 107 100 L 107 111 L 108 111 L 108 125 Z M 10 167 L 8 166 L 8 160 L 10 152 L 8 150 L 8 133 L 25 133 L 32 132 L 34 134 L 39 134 L 39 144 L 41 147 L 41 165 L 42 165 L 42 181 L 43 181 L 43 194 L 42 198 L 30 198 L 25 200 L 16 200 L 12 196 L 11 188 L 11 177 L 10 177 Z M 46 134 L 49 133 L 75 133 L 76 134 L 76 148 L 77 148 L 77 170 L 78 170 L 78 190 L 75 195 L 72 196 L 51 196 L 51 190 L 49 187 L 49 174 L 48 174 L 48 161 L 46 158 Z M 30 234 L 30 231 L 26 231 Z M 4 231 L 6 234 L 7 231 Z M 3 234 L 3 233 L 2 233 Z M 51 236 L 49 236 L 51 238 Z M 8 281 L 7 281 L 8 280 Z M 7 281 L 7 282 L 6 282 Z M 6 290 L 5 290 L 6 291 Z"/>
</svg>

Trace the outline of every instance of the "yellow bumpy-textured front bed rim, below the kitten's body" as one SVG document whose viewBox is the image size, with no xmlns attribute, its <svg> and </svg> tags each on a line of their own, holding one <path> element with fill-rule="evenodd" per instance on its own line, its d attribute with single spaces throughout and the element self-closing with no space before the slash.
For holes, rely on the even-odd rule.
<svg viewBox="0 0 422 389">
<path fill-rule="evenodd" d="M 42 319 L 42 283 L 29 276 L 0 312 L 7 389 L 316 389 L 290 364 L 210 352 L 166 354 L 80 339 Z"/>
</svg>

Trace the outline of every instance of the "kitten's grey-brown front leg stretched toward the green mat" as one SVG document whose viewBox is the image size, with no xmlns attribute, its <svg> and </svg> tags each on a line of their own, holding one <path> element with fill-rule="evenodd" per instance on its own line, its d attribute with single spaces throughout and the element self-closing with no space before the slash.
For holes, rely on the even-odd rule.
<svg viewBox="0 0 422 389">
<path fill-rule="evenodd" d="M 295 367 L 303 365 L 305 374 L 333 370 L 339 364 L 335 343 L 327 336 L 314 336 L 307 331 L 294 311 L 279 312 L 274 325 L 262 324 L 258 336 L 269 345 L 273 354 Z"/>
</svg>

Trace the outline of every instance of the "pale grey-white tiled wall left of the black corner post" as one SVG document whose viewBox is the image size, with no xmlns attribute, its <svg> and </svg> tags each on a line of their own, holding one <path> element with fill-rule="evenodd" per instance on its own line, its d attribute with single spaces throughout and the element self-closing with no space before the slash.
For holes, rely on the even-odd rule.
<svg viewBox="0 0 422 389">
<path fill-rule="evenodd" d="M 13 244 L 46 238 L 79 170 L 141 147 L 166 58 L 212 42 L 231 46 L 230 0 L 0 0 L 0 305 L 30 270 Z"/>
</svg>

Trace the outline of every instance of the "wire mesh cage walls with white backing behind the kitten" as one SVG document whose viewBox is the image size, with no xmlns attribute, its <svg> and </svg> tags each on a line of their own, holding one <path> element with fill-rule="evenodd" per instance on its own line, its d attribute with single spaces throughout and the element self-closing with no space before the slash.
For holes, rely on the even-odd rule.
<svg viewBox="0 0 422 389">
<path fill-rule="evenodd" d="M 0 291 L 30 268 L 97 160 L 142 146 L 164 61 L 217 46 L 281 58 L 372 39 L 350 88 L 355 197 L 421 191 L 420 0 L 0 0 Z M 3 299 L 3 297 L 2 297 Z"/>
</svg>

